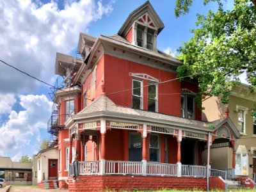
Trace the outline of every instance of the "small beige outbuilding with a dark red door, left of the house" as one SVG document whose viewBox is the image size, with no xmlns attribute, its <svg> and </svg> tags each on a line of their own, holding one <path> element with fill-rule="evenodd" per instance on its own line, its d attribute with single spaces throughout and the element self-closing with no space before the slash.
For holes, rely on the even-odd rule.
<svg viewBox="0 0 256 192">
<path fill-rule="evenodd" d="M 34 161 L 38 186 L 45 186 L 50 180 L 58 180 L 58 146 L 40 150 Z"/>
</svg>

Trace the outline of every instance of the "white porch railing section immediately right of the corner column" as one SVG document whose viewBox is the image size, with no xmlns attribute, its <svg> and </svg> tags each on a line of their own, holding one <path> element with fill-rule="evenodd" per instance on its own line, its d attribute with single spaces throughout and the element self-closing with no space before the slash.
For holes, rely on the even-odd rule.
<svg viewBox="0 0 256 192">
<path fill-rule="evenodd" d="M 141 175 L 142 162 L 134 161 L 108 161 L 106 160 L 106 175 Z"/>
</svg>

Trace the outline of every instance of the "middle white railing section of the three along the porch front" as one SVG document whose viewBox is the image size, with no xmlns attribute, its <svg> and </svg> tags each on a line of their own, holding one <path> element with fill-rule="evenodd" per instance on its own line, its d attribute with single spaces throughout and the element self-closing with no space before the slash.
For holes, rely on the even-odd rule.
<svg viewBox="0 0 256 192">
<path fill-rule="evenodd" d="M 177 164 L 147 163 L 147 175 L 177 176 Z"/>
</svg>

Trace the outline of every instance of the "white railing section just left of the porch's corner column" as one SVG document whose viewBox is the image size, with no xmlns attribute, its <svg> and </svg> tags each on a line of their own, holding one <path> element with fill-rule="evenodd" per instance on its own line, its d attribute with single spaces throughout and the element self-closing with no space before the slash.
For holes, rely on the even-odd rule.
<svg viewBox="0 0 256 192">
<path fill-rule="evenodd" d="M 79 175 L 99 175 L 100 161 L 79 161 Z"/>
</svg>

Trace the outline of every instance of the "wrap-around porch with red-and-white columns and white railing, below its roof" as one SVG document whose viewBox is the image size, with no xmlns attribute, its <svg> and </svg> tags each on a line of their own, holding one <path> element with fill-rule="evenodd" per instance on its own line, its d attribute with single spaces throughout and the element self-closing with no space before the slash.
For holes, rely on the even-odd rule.
<svg viewBox="0 0 256 192">
<path fill-rule="evenodd" d="M 202 162 L 202 151 L 211 147 L 212 140 L 225 138 L 223 128 L 221 131 L 175 129 L 167 125 L 134 124 L 116 120 L 77 123 L 70 129 L 69 146 L 74 142 L 75 156 L 70 148 L 69 175 L 198 178 L 212 175 L 231 179 L 236 165 L 235 153 L 232 168 L 227 170 L 211 170 L 210 153 L 207 162 Z M 229 141 L 232 147 L 234 138 L 230 137 Z M 93 146 L 93 156 L 88 155 L 88 146 Z M 73 162 L 72 156 L 75 160 Z"/>
</svg>

